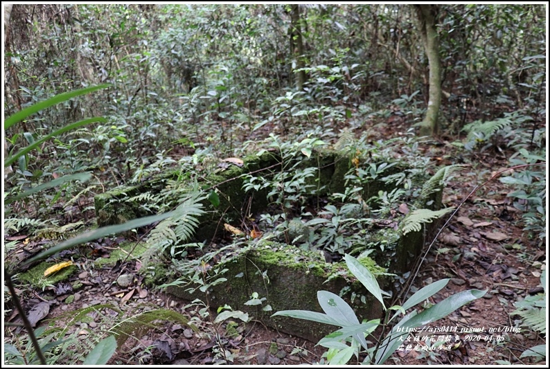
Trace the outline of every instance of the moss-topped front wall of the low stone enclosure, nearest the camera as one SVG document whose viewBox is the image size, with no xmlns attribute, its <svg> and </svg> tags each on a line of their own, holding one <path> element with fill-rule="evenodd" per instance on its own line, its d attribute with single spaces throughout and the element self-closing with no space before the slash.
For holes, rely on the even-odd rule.
<svg viewBox="0 0 550 369">
<path fill-rule="evenodd" d="M 317 301 L 317 291 L 322 289 L 340 294 L 344 287 L 350 287 L 357 296 L 365 296 L 365 304 L 360 303 L 360 298 L 355 298 L 353 303 L 348 299 L 360 320 L 379 318 L 382 314 L 380 303 L 359 282 L 353 280 L 344 263 L 328 264 L 320 253 L 266 242 L 218 264 L 216 268 L 227 269 L 222 275 L 227 278 L 227 282 L 212 287 L 208 299 L 198 289 L 191 294 L 184 287 L 172 286 L 168 287 L 167 292 L 185 300 L 209 300 L 212 309 L 230 305 L 235 310 L 248 312 L 270 327 L 312 341 L 320 339 L 337 327 L 283 316 L 272 317 L 272 314 L 287 309 L 322 312 Z M 328 280 L 330 276 L 332 278 Z M 380 281 L 383 286 L 384 280 Z M 259 298 L 265 297 L 266 300 L 262 305 L 245 305 L 254 292 Z M 266 305 L 271 305 L 271 312 L 262 310 Z"/>
</svg>

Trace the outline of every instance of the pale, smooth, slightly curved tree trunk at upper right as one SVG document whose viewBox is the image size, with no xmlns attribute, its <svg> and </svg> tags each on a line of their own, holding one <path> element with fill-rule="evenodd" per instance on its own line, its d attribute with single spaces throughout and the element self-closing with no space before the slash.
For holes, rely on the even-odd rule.
<svg viewBox="0 0 550 369">
<path fill-rule="evenodd" d="M 414 8 L 429 64 L 429 100 L 426 116 L 420 124 L 420 134 L 434 136 L 438 133 L 437 116 L 441 105 L 441 60 L 436 30 L 437 6 L 415 5 Z"/>
</svg>

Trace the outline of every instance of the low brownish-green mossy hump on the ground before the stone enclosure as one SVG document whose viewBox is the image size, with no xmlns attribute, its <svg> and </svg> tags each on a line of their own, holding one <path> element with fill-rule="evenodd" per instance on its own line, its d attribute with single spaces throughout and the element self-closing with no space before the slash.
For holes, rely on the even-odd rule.
<svg viewBox="0 0 550 369">
<path fill-rule="evenodd" d="M 198 332 L 197 327 L 190 324 L 188 318 L 170 309 L 150 310 L 149 312 L 132 316 L 132 318 L 127 318 L 125 321 L 112 327 L 110 331 L 116 334 L 117 347 L 121 347 L 130 337 L 141 338 L 150 329 L 161 327 L 161 321 L 180 323 Z"/>
</svg>

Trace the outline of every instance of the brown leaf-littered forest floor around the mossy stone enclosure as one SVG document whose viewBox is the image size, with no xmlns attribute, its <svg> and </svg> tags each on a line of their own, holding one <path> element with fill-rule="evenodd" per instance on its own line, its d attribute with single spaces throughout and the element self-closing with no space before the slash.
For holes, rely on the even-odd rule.
<svg viewBox="0 0 550 369">
<path fill-rule="evenodd" d="M 400 127 L 371 127 L 373 135 L 391 138 Z M 425 155 L 442 165 L 454 159 L 454 147 L 447 145 L 425 147 Z M 480 186 L 493 174 L 508 165 L 504 155 L 495 152 L 477 154 L 465 161 L 465 170 L 455 177 L 445 190 L 445 206 L 459 206 L 474 186 Z M 531 363 L 531 359 L 520 359 L 520 354 L 535 345 L 544 345 L 538 334 L 519 326 L 520 321 L 512 313 L 514 303 L 529 294 L 540 292 L 540 272 L 546 260 L 544 245 L 539 246 L 536 237 L 530 240 L 518 220 L 521 213 L 509 201 L 509 186 L 497 179 L 475 192 L 450 220 L 448 226 L 427 253 L 421 264 L 414 287 L 425 285 L 443 278 L 451 278 L 445 289 L 431 298 L 437 303 L 444 298 L 465 289 L 487 290 L 483 298 L 474 300 L 456 310 L 447 318 L 436 322 L 432 327 L 449 327 L 453 331 L 451 350 L 421 350 L 425 332 L 414 332 L 409 336 L 410 344 L 405 350 L 398 350 L 387 362 L 389 364 L 425 365 L 471 364 L 491 365 L 497 360 L 511 363 Z M 116 249 L 114 242 L 105 245 L 96 258 L 108 256 Z M 174 364 L 204 365 L 211 363 L 231 364 L 274 364 L 296 365 L 317 363 L 325 349 L 314 342 L 290 336 L 265 327 L 258 321 L 236 325 L 229 330 L 227 324 L 213 323 L 206 316 L 202 306 L 178 300 L 164 294 L 159 289 L 147 289 L 139 276 L 141 263 L 131 258 L 116 265 L 105 265 L 98 269 L 91 266 L 94 259 L 81 260 L 80 271 L 72 280 L 80 280 L 82 288 L 73 294 L 64 293 L 60 285 L 45 286 L 42 290 L 29 286 L 19 286 L 26 311 L 47 303 L 48 311 L 42 318 L 67 327 L 75 341 L 67 345 L 65 354 L 70 357 L 82 354 L 82 345 L 88 345 L 98 335 L 105 336 L 105 330 L 113 327 L 119 313 L 104 309 L 105 314 L 92 312 L 87 320 L 76 323 L 61 323 L 61 316 L 67 312 L 85 307 L 113 304 L 121 309 L 123 317 L 135 316 L 158 307 L 179 312 L 190 319 L 199 329 L 193 332 L 185 324 L 164 323 L 150 329 L 144 336 L 134 336 L 118 348 L 109 363 L 112 364 Z M 121 276 L 130 276 L 121 283 Z M 118 283 L 116 282 L 118 280 Z M 71 282 L 71 280 L 69 280 Z M 51 297 L 54 296 L 53 300 Z M 112 317 L 112 321 L 106 319 Z M 119 316 L 120 317 L 120 316 Z M 17 314 L 6 316 L 7 321 L 17 322 Z M 472 329 L 477 332 L 468 332 Z M 481 332 L 479 332 L 481 331 Z M 489 333 L 492 332 L 492 333 Z M 11 327 L 5 331 L 5 342 L 17 342 L 21 328 Z M 438 334 L 443 334 L 438 333 Z M 416 348 L 416 349 L 415 349 Z M 360 358 L 360 361 L 362 359 Z M 352 359 L 350 363 L 357 363 Z"/>
</svg>

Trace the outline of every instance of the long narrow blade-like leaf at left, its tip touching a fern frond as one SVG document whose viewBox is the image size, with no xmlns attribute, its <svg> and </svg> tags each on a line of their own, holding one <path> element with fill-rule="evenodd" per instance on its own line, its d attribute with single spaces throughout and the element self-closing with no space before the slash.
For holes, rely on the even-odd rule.
<svg viewBox="0 0 550 369">
<path fill-rule="evenodd" d="M 98 229 L 94 229 L 94 231 L 89 231 L 82 233 L 81 235 L 78 235 L 76 237 L 71 238 L 70 240 L 66 240 L 64 242 L 61 242 L 57 246 L 53 246 L 51 249 L 48 249 L 46 251 L 43 251 L 42 253 L 39 253 L 34 258 L 30 258 L 23 264 L 21 264 L 21 267 L 24 267 L 25 265 L 31 264 L 37 260 L 42 260 L 44 258 L 47 258 L 50 255 L 53 255 L 55 253 L 58 253 L 60 251 L 69 249 L 73 246 L 76 246 L 78 244 L 84 244 L 85 242 L 90 242 L 97 240 L 100 237 L 106 237 L 108 235 L 113 235 L 116 233 L 121 233 L 125 231 L 130 231 L 134 228 L 139 228 L 143 226 L 147 226 L 148 224 L 159 222 L 163 219 L 166 219 L 168 217 L 172 217 L 172 215 L 178 215 L 180 212 L 178 210 L 170 211 L 168 213 L 163 213 L 159 215 L 151 215 L 150 217 L 143 217 L 139 219 L 130 220 L 130 222 L 126 222 L 123 224 L 116 224 L 114 226 L 105 226 Z"/>
</svg>

